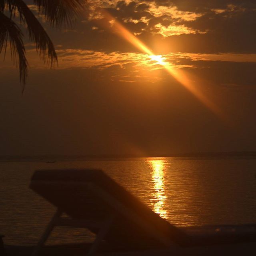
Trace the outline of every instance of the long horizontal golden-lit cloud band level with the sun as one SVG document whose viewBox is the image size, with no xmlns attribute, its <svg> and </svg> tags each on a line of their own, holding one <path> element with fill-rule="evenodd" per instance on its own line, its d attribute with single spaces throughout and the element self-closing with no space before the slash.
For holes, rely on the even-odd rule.
<svg viewBox="0 0 256 256">
<path fill-rule="evenodd" d="M 59 70 L 88 72 L 95 81 L 176 83 L 164 67 L 146 54 L 133 52 L 97 52 L 82 49 L 59 49 Z M 29 60 L 35 60 L 35 52 L 28 52 Z M 236 84 L 256 86 L 256 54 L 190 54 L 169 53 L 162 59 L 173 68 L 184 69 L 194 83 L 205 82 L 219 86 Z M 32 68 L 45 69 L 39 58 L 30 62 Z M 93 75 L 95 74 L 95 75 Z M 193 77 L 193 78 L 192 78 Z"/>
</svg>

